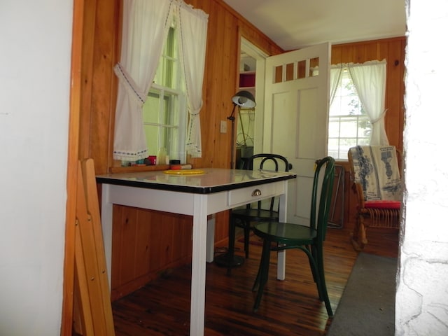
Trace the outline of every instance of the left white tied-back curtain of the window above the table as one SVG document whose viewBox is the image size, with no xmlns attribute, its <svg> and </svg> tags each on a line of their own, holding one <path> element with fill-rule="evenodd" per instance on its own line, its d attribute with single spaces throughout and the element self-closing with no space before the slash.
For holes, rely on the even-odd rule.
<svg viewBox="0 0 448 336">
<path fill-rule="evenodd" d="M 125 0 L 118 76 L 113 158 L 136 161 L 148 156 L 141 108 L 167 39 L 173 1 Z"/>
</svg>

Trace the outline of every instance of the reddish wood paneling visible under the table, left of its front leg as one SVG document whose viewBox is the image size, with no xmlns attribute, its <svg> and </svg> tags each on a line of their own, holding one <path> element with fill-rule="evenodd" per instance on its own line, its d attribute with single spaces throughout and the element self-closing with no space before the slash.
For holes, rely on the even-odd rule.
<svg viewBox="0 0 448 336">
<path fill-rule="evenodd" d="M 191 229 L 190 216 L 113 207 L 112 300 L 190 262 Z"/>
</svg>

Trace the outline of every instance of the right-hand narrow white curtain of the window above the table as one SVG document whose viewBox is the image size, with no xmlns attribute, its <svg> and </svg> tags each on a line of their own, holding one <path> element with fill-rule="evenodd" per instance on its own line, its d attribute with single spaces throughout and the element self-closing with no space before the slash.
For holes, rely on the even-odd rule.
<svg viewBox="0 0 448 336">
<path fill-rule="evenodd" d="M 186 149 L 192 158 L 201 158 L 202 82 L 204 80 L 205 48 L 208 15 L 182 3 L 180 8 L 180 51 L 186 77 L 188 128 Z"/>
</svg>

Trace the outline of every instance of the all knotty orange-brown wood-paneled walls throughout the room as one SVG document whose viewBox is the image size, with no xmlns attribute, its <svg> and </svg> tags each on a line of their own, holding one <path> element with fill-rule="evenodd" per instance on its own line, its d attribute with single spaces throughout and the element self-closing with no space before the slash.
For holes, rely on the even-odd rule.
<svg viewBox="0 0 448 336">
<path fill-rule="evenodd" d="M 220 132 L 220 122 L 227 120 L 232 110 L 231 97 L 237 90 L 239 38 L 244 36 L 268 55 L 277 55 L 284 50 L 223 0 L 186 2 L 209 14 L 204 105 L 200 115 L 202 158 L 189 159 L 188 163 L 194 167 L 230 167 L 231 134 Z M 85 0 L 79 157 L 94 158 L 97 174 L 107 173 L 116 165 L 112 160 L 117 90 L 113 66 L 119 60 L 121 10 L 121 0 Z M 332 48 L 332 63 L 388 60 L 386 129 L 391 144 L 398 148 L 402 148 L 404 52 L 405 38 Z M 348 192 L 346 197 L 349 205 L 344 217 L 350 218 L 352 205 Z M 162 269 L 189 260 L 191 218 L 119 206 L 114 207 L 114 218 L 111 279 L 114 298 L 130 293 Z M 225 244 L 227 225 L 228 213 L 217 214 L 218 244 Z"/>
</svg>

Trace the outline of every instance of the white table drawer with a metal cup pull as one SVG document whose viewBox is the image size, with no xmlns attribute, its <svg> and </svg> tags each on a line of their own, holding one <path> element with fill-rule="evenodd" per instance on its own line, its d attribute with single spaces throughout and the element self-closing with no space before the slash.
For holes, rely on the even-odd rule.
<svg viewBox="0 0 448 336">
<path fill-rule="evenodd" d="M 284 193 L 283 182 L 261 184 L 259 186 L 230 190 L 228 193 L 228 206 L 235 207 L 241 204 L 252 203 Z"/>
</svg>

